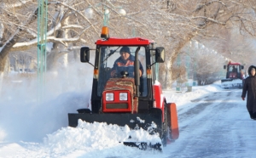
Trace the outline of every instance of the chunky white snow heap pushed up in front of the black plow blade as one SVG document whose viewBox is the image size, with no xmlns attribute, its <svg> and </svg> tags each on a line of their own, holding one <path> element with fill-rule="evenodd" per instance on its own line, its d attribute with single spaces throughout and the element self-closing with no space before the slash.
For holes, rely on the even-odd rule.
<svg viewBox="0 0 256 158">
<path fill-rule="evenodd" d="M 131 136 L 131 138 L 129 138 Z M 128 126 L 108 125 L 107 123 L 89 123 L 79 120 L 78 127 L 62 127 L 44 138 L 44 145 L 50 150 L 65 151 L 78 148 L 104 149 L 119 146 L 119 142 L 160 143 L 158 134 L 150 135 L 142 128 L 131 130 Z"/>
</svg>

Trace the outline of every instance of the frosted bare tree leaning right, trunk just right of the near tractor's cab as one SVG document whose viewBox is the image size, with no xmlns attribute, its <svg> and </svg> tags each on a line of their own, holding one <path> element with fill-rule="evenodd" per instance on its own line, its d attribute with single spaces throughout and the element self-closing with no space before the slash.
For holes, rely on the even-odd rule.
<svg viewBox="0 0 256 158">
<path fill-rule="evenodd" d="M 166 73 L 171 75 L 172 64 L 180 50 L 192 38 L 216 39 L 222 28 L 232 32 L 239 30 L 244 36 L 254 36 L 255 33 L 255 2 L 253 1 L 161 1 L 154 3 L 152 17 L 157 17 L 160 28 L 164 28 L 159 43 L 166 43 L 170 50 L 166 65 Z M 166 8 L 165 8 L 166 7 Z M 160 29 L 158 29 L 160 31 Z M 159 33 L 161 35 L 161 32 Z M 170 73 L 168 73 L 170 72 Z M 170 78 L 168 76 L 166 78 Z M 170 80 L 167 80 L 168 82 Z M 171 84 L 169 84 L 171 86 Z"/>
</svg>

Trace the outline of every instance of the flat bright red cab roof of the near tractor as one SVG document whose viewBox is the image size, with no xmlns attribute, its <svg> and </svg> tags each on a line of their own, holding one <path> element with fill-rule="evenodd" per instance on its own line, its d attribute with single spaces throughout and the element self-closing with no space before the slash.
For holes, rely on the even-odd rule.
<svg viewBox="0 0 256 158">
<path fill-rule="evenodd" d="M 145 46 L 154 43 L 153 40 L 148 40 L 141 37 L 133 38 L 115 38 L 109 37 L 107 40 L 100 39 L 96 41 L 96 45 L 108 46 Z"/>
</svg>

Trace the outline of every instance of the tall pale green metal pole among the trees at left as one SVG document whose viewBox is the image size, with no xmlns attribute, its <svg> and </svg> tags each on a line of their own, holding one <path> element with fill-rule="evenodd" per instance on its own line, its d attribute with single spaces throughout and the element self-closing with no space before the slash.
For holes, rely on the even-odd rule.
<svg viewBox="0 0 256 158">
<path fill-rule="evenodd" d="M 45 95 L 48 0 L 38 0 L 38 104 Z"/>
</svg>

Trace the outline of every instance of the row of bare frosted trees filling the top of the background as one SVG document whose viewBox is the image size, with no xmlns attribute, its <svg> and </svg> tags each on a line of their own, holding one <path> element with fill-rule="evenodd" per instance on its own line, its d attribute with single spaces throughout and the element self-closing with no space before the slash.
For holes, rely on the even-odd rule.
<svg viewBox="0 0 256 158">
<path fill-rule="evenodd" d="M 138 37 L 154 39 L 166 48 L 167 62 L 162 71 L 167 88 L 172 85 L 168 78 L 173 76 L 177 55 L 192 39 L 228 59 L 253 62 L 253 58 L 247 58 L 253 53 L 252 40 L 247 39 L 255 37 L 254 0 L 49 0 L 47 35 L 52 43 L 47 55 L 49 70 L 55 69 L 61 56 L 68 53 L 76 59 L 77 48 L 93 46 L 102 27 L 102 6 L 110 10 L 108 25 L 112 37 L 131 37 L 132 31 L 136 31 Z M 89 7 L 96 13 L 92 19 L 84 14 Z M 119 14 L 119 7 L 125 9 L 125 16 Z M 3 0 L 0 13 L 3 76 L 11 52 L 37 48 L 38 3 Z"/>
</svg>

